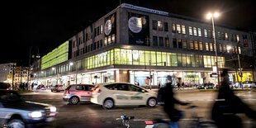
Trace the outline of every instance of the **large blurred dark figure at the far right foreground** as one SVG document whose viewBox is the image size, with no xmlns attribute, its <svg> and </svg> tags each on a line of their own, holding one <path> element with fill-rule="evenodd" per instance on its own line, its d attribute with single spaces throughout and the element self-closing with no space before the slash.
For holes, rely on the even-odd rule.
<svg viewBox="0 0 256 128">
<path fill-rule="evenodd" d="M 230 89 L 228 70 L 223 69 L 221 73 L 223 79 L 220 84 L 218 97 L 213 105 L 211 117 L 216 121 L 216 125 L 220 128 L 241 128 L 242 121 L 236 113 L 245 113 L 246 116 L 256 119 L 256 111 L 249 108 L 241 99 L 235 96 Z"/>
</svg>

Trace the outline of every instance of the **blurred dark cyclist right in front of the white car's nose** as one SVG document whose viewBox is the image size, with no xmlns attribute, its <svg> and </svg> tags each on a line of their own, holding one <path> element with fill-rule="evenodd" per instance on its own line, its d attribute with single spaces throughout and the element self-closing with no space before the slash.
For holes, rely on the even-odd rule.
<svg viewBox="0 0 256 128">
<path fill-rule="evenodd" d="M 174 107 L 174 104 L 187 105 L 187 102 L 178 101 L 173 95 L 173 80 L 171 76 L 167 76 L 168 83 L 164 88 L 163 92 L 163 102 L 164 102 L 164 111 L 168 114 L 168 117 L 171 121 L 177 122 L 183 117 L 182 111 L 179 111 Z"/>
</svg>

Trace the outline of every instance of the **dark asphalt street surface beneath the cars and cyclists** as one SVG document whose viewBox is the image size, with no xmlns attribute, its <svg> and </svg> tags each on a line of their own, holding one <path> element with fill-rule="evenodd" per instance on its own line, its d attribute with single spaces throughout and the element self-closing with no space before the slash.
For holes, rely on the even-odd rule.
<svg viewBox="0 0 256 128">
<path fill-rule="evenodd" d="M 243 99 L 256 110 L 256 92 L 239 91 L 235 92 L 237 96 Z M 192 105 L 198 106 L 197 115 L 203 117 L 202 120 L 210 120 L 211 106 L 215 101 L 217 92 L 199 92 L 199 91 L 178 91 L 175 93 L 182 102 L 190 102 Z M 157 106 L 149 107 L 115 107 L 111 110 L 105 110 L 101 106 L 90 102 L 79 103 L 78 105 L 69 105 L 68 102 L 62 100 L 63 92 L 28 92 L 23 93 L 25 100 L 31 102 L 43 102 L 55 105 L 58 116 L 55 121 L 44 124 L 41 127 L 119 127 L 121 121 L 116 121 L 121 115 L 135 116 L 130 121 L 130 127 L 145 127 L 145 121 L 153 119 L 167 119 L 163 108 Z M 187 107 L 177 106 L 179 110 L 184 111 L 184 117 L 178 122 L 180 127 L 186 127 L 191 121 L 190 111 Z M 243 114 L 239 115 L 243 119 L 244 127 L 252 127 L 255 122 L 249 121 Z"/>
</svg>

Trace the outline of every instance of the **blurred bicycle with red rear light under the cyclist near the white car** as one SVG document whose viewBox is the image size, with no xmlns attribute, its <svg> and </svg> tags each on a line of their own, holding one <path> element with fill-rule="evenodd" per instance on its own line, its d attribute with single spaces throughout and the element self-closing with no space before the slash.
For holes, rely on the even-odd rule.
<svg viewBox="0 0 256 128">
<path fill-rule="evenodd" d="M 212 121 L 201 121 L 201 117 L 197 116 L 196 108 L 197 106 L 190 106 L 188 109 L 192 113 L 192 121 L 186 128 L 217 128 L 215 122 Z M 145 128 L 178 128 L 178 124 L 175 121 L 145 121 L 147 125 Z"/>
</svg>

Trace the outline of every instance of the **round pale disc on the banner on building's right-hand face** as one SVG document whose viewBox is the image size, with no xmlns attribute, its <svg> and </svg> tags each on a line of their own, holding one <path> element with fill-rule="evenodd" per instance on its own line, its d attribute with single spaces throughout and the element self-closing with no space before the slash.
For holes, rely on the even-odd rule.
<svg viewBox="0 0 256 128">
<path fill-rule="evenodd" d="M 139 33 L 142 30 L 142 21 L 138 17 L 130 17 L 128 21 L 128 26 L 130 31 L 134 33 Z"/>
</svg>

